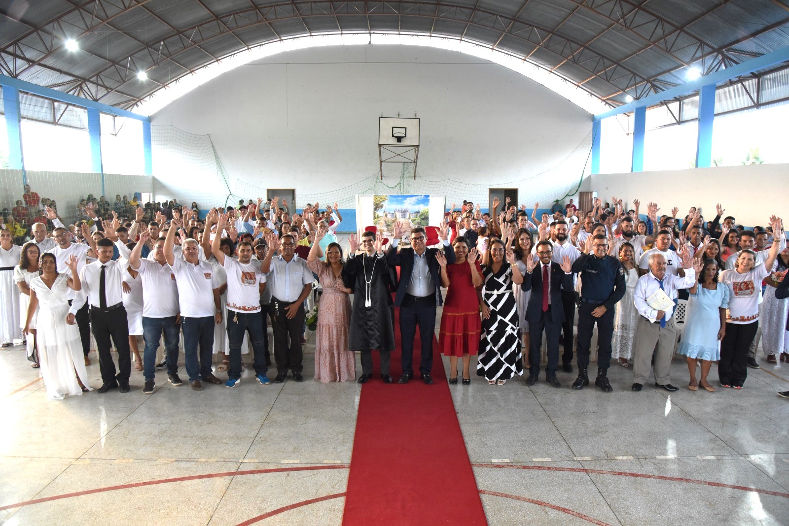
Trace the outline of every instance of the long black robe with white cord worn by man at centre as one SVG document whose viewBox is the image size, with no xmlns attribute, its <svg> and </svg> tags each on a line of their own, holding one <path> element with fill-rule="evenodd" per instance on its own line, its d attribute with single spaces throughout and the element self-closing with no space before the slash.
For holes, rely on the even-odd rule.
<svg viewBox="0 0 789 526">
<path fill-rule="evenodd" d="M 373 267 L 373 264 L 375 265 Z M 365 269 L 370 283 L 370 306 L 365 307 Z M 346 287 L 353 283 L 348 348 L 350 350 L 394 350 L 394 288 L 386 254 L 381 257 L 359 254 L 349 257 L 342 269 Z"/>
</svg>

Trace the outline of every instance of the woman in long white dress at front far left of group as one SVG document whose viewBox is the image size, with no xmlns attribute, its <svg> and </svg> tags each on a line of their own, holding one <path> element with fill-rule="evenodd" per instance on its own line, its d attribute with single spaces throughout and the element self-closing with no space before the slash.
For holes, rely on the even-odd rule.
<svg viewBox="0 0 789 526">
<path fill-rule="evenodd" d="M 71 276 L 58 272 L 58 261 L 50 252 L 41 256 L 40 265 L 41 276 L 30 282 L 30 303 L 24 332 L 30 332 L 30 322 L 38 307 L 36 343 L 39 346 L 41 376 L 50 400 L 62 400 L 66 394 L 78 395 L 90 391 L 80 331 L 76 324 L 65 322 L 69 313 L 69 288 L 79 291 L 82 285 L 77 273 L 77 257 L 69 256 Z"/>
</svg>

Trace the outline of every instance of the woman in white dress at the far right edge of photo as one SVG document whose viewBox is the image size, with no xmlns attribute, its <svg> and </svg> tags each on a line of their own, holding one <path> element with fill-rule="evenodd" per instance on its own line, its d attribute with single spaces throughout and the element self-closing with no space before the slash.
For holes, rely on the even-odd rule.
<svg viewBox="0 0 789 526">
<path fill-rule="evenodd" d="M 789 269 L 789 248 L 778 254 L 776 262 L 772 265 L 772 272 L 765 279 L 767 287 L 761 305 L 761 349 L 767 356 L 768 364 L 776 364 L 776 354 L 781 361 L 789 357 L 789 340 L 787 340 L 787 311 L 789 299 L 776 298 L 776 287 L 786 280 Z"/>
</svg>

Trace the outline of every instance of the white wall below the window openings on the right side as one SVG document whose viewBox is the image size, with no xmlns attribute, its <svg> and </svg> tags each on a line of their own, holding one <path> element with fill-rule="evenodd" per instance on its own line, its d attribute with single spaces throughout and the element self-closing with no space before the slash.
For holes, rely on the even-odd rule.
<svg viewBox="0 0 789 526">
<path fill-rule="evenodd" d="M 678 216 L 685 217 L 691 206 L 697 206 L 705 220 L 712 220 L 720 202 L 725 215 L 734 216 L 738 224 L 764 227 L 773 213 L 789 224 L 789 164 L 596 174 L 585 178 L 581 191 L 597 191 L 604 202 L 616 195 L 629 208 L 638 199 L 641 215 L 654 201 L 660 214 L 670 214 L 677 206 Z"/>
</svg>

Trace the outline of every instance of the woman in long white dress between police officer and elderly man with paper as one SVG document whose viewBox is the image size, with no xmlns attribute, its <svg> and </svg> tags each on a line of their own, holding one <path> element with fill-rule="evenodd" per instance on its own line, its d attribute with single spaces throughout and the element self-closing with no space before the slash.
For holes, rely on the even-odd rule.
<svg viewBox="0 0 789 526">
<path fill-rule="evenodd" d="M 638 310 L 634 302 L 638 269 L 635 265 L 635 250 L 630 243 L 619 246 L 619 262 L 625 269 L 627 289 L 621 301 L 614 306 L 614 338 L 611 341 L 611 357 L 619 358 L 619 365 L 630 367 L 628 359 L 633 354 L 633 343 L 636 336 Z"/>
</svg>

